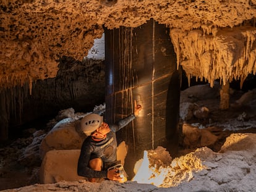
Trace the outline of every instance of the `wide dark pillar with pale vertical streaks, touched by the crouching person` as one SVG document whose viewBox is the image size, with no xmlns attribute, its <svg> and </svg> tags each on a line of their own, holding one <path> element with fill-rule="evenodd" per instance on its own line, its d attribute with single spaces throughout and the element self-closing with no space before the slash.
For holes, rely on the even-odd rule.
<svg viewBox="0 0 256 192">
<path fill-rule="evenodd" d="M 169 29 L 150 20 L 137 28 L 105 30 L 106 114 L 116 123 L 133 112 L 134 99 L 143 110 L 117 132 L 129 147 L 125 169 L 131 179 L 143 151 L 157 146 L 177 152 L 179 74 Z"/>
</svg>

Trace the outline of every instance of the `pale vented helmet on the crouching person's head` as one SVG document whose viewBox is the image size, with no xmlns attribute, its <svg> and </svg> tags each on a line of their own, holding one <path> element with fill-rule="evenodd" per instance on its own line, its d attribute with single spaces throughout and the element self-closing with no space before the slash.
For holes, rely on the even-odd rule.
<svg viewBox="0 0 256 192">
<path fill-rule="evenodd" d="M 88 114 L 81 120 L 81 130 L 85 135 L 90 136 L 93 131 L 100 127 L 103 117 L 98 114 Z"/>
</svg>

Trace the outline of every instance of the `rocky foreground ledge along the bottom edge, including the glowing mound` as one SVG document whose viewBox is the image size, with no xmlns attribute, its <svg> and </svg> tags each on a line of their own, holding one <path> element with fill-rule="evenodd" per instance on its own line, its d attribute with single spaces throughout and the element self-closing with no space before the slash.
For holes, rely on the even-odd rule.
<svg viewBox="0 0 256 192">
<path fill-rule="evenodd" d="M 150 150 L 147 152 L 146 161 L 149 162 L 148 167 L 156 173 L 145 175 L 149 173 L 148 167 L 144 167 L 145 170 L 141 171 L 144 173 L 144 180 L 154 177 L 157 180 L 157 177 L 161 176 L 160 180 L 163 183 L 159 188 L 136 182 L 90 183 L 79 180 L 36 184 L 5 191 L 254 191 L 256 187 L 255 142 L 254 133 L 232 134 L 227 138 L 220 152 L 213 152 L 207 147 L 199 148 L 185 156 L 173 159 L 171 163 L 168 152 L 163 148 Z"/>
</svg>

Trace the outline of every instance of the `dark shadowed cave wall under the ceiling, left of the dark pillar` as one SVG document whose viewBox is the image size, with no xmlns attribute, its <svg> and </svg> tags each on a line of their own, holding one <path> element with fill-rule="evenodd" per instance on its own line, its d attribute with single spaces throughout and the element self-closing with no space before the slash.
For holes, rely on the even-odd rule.
<svg viewBox="0 0 256 192">
<path fill-rule="evenodd" d="M 0 90 L 0 96 L 0 140 L 6 140 L 19 135 L 19 130 L 28 128 L 30 122 L 47 122 L 62 109 L 72 107 L 75 112 L 88 112 L 103 104 L 105 64 L 62 57 L 56 78 L 33 83 L 32 95 L 24 85 Z"/>
</svg>

